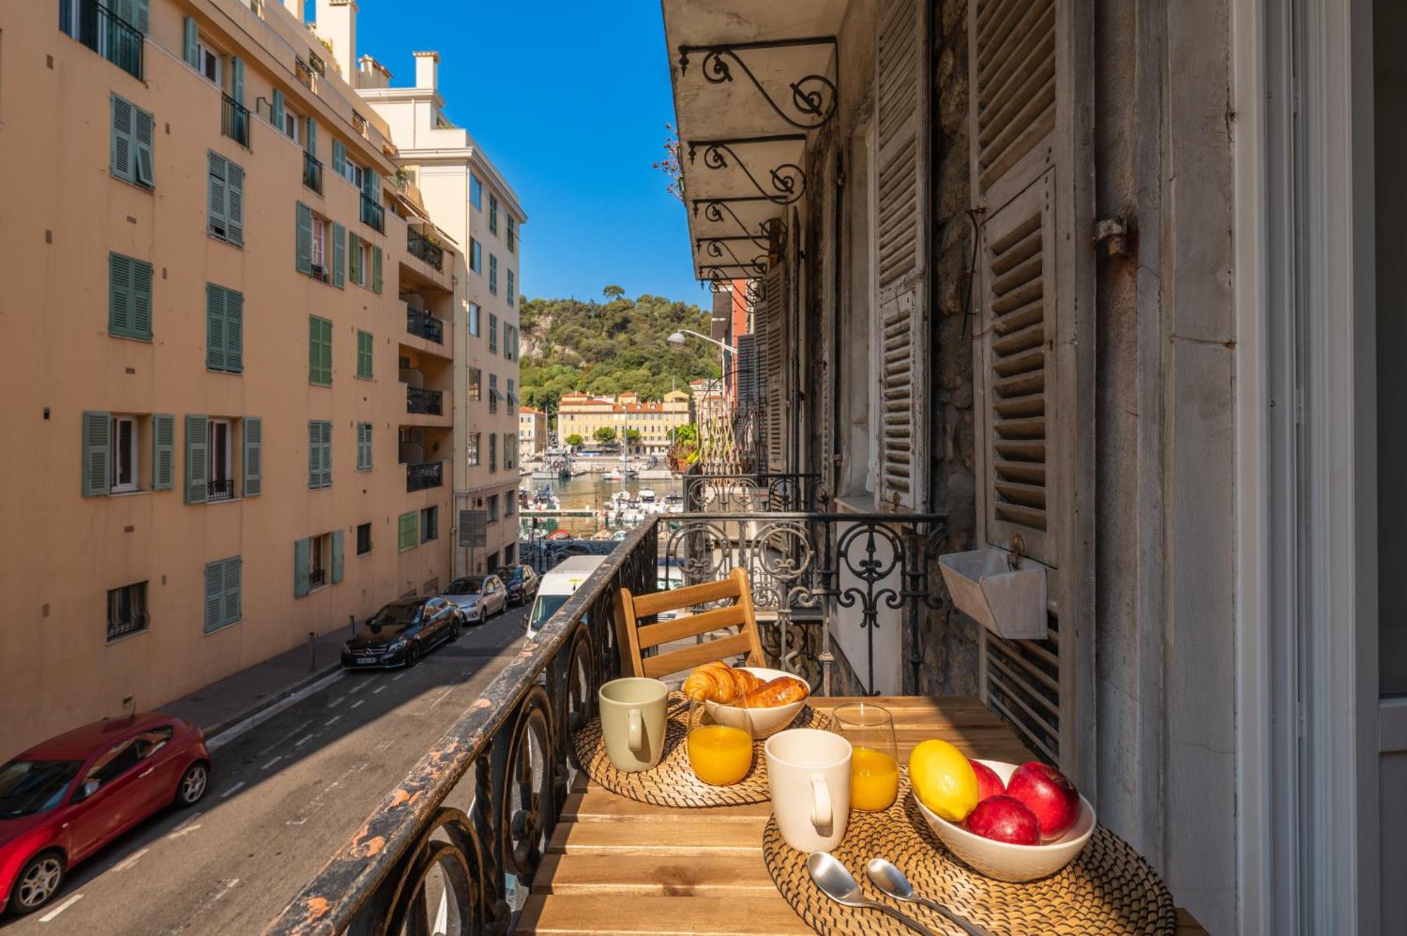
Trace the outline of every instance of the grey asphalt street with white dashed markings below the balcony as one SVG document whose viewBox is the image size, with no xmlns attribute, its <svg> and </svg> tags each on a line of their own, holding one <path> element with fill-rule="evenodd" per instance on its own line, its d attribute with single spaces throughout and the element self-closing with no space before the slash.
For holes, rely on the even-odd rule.
<svg viewBox="0 0 1407 936">
<path fill-rule="evenodd" d="M 336 673 L 214 739 L 210 793 L 73 869 L 0 936 L 256 936 L 512 658 L 509 609 L 416 668 Z"/>
</svg>

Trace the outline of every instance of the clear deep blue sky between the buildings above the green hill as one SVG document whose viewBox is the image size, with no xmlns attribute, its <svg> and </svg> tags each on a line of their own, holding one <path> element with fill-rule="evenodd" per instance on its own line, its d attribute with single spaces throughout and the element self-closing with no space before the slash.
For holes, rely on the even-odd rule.
<svg viewBox="0 0 1407 936">
<path fill-rule="evenodd" d="M 308 3 L 308 8 L 312 8 Z M 449 119 L 469 129 L 522 200 L 525 295 L 628 295 L 705 304 L 684 207 L 651 167 L 674 121 L 660 6 L 362 0 L 357 55 L 414 82 L 412 51 L 440 53 Z"/>
</svg>

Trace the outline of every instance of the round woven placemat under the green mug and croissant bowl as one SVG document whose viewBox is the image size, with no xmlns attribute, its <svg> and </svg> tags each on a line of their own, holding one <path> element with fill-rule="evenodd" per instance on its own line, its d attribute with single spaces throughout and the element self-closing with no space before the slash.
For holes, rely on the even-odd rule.
<svg viewBox="0 0 1407 936">
<path fill-rule="evenodd" d="M 691 810 L 711 805 L 746 805 L 767 802 L 767 758 L 763 741 L 753 742 L 753 767 L 747 776 L 730 787 L 715 787 L 694 776 L 689 755 L 684 743 L 688 734 L 689 706 L 684 693 L 670 693 L 670 721 L 664 728 L 664 753 L 650 770 L 628 773 L 616 770 L 606 758 L 606 743 L 601 736 L 601 718 L 588 721 L 573 738 L 577 763 L 592 780 L 612 793 L 651 805 Z M 809 704 L 802 706 L 788 728 L 836 729 L 836 720 L 816 711 Z"/>
</svg>

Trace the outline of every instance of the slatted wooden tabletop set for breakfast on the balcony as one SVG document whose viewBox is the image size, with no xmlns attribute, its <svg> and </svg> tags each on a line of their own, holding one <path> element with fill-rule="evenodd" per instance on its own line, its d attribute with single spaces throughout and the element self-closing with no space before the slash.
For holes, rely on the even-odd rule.
<svg viewBox="0 0 1407 936">
<path fill-rule="evenodd" d="M 924 738 L 969 756 L 1031 760 L 1016 735 L 969 697 L 813 698 L 829 710 L 874 701 L 893 713 L 899 758 Z M 666 810 L 580 774 L 533 878 L 519 933 L 810 933 L 763 864 L 771 805 Z M 699 899 L 702 898 L 702 899 Z M 1206 936 L 1178 911 L 1178 936 Z"/>
</svg>

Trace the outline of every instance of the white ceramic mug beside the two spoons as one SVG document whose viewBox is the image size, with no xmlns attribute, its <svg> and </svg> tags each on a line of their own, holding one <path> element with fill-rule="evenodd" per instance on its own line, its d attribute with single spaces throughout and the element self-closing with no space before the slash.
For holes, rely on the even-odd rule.
<svg viewBox="0 0 1407 936">
<path fill-rule="evenodd" d="M 829 852 L 850 822 L 850 742 L 815 728 L 792 728 L 767 739 L 767 786 L 787 845 Z"/>
</svg>

